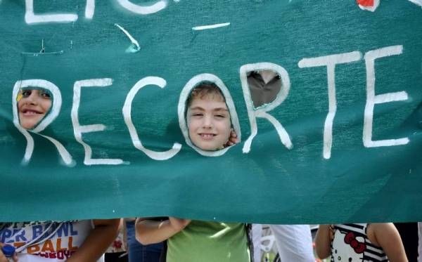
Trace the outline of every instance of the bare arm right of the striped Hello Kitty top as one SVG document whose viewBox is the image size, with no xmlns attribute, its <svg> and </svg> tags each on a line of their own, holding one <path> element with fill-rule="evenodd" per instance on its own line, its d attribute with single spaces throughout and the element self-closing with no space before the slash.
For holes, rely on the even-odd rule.
<svg viewBox="0 0 422 262">
<path fill-rule="evenodd" d="M 372 244 L 381 247 L 390 262 L 407 262 L 402 238 L 393 223 L 369 224 L 367 232 Z"/>
</svg>

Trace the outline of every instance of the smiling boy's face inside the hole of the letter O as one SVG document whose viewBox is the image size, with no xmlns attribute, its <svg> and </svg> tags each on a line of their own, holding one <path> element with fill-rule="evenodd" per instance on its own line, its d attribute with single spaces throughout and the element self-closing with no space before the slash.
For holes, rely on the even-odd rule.
<svg viewBox="0 0 422 262">
<path fill-rule="evenodd" d="M 193 145 L 207 151 L 224 148 L 231 131 L 230 114 L 224 98 L 219 94 L 193 98 L 186 117 Z"/>
</svg>

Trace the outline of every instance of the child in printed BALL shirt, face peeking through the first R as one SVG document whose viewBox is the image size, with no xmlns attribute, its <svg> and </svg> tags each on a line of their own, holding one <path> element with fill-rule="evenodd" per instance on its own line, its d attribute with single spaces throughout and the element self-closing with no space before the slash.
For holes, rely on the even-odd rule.
<svg viewBox="0 0 422 262">
<path fill-rule="evenodd" d="M 49 113 L 51 98 L 45 89 L 20 90 L 20 126 L 34 129 Z M 15 247 L 13 260 L 19 262 L 97 261 L 117 236 L 118 226 L 119 219 L 0 223 L 0 246 Z M 0 262 L 4 261 L 0 250 Z"/>
</svg>

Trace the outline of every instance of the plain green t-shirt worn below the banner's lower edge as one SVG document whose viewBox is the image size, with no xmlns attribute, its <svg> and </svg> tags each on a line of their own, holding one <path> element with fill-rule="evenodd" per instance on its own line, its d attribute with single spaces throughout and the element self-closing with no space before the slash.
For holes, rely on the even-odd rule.
<svg viewBox="0 0 422 262">
<path fill-rule="evenodd" d="M 167 240 L 167 262 L 250 262 L 243 223 L 191 221 Z"/>
</svg>

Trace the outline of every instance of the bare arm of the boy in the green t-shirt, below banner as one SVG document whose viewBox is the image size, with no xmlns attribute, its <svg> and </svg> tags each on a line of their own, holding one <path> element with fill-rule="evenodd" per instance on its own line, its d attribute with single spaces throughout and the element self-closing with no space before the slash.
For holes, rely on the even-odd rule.
<svg viewBox="0 0 422 262">
<path fill-rule="evenodd" d="M 142 244 L 154 244 L 169 239 L 186 228 L 191 220 L 174 218 L 165 221 L 153 221 L 148 218 L 137 218 L 135 222 L 136 240 Z"/>
</svg>

